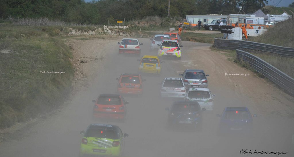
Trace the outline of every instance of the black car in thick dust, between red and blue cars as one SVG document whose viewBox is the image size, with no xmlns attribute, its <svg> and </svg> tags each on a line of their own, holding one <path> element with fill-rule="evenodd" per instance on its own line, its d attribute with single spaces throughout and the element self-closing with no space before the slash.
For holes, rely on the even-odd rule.
<svg viewBox="0 0 294 157">
<path fill-rule="evenodd" d="M 200 107 L 196 101 L 176 101 L 171 109 L 166 107 L 168 114 L 168 127 L 174 125 L 193 126 L 201 130 L 202 126 L 202 111 L 205 108 Z"/>
</svg>

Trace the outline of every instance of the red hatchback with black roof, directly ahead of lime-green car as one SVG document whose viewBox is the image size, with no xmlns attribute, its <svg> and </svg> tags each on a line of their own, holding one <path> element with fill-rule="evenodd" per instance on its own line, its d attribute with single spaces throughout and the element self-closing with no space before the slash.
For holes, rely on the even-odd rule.
<svg viewBox="0 0 294 157">
<path fill-rule="evenodd" d="M 126 119 L 128 102 L 119 94 L 101 94 L 93 103 L 93 117 L 121 119 L 123 122 Z"/>
</svg>

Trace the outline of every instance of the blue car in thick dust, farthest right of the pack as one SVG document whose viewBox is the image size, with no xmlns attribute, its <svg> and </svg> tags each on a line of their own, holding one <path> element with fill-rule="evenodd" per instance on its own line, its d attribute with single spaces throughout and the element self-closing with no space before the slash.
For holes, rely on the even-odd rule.
<svg viewBox="0 0 294 157">
<path fill-rule="evenodd" d="M 251 115 L 247 107 L 225 107 L 220 117 L 220 133 L 243 132 L 252 130 L 253 119 L 257 115 Z"/>
</svg>

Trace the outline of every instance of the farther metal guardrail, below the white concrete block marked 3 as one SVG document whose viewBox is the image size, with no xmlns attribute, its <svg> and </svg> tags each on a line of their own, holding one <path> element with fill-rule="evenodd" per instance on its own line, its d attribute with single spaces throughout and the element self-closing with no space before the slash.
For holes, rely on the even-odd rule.
<svg viewBox="0 0 294 157">
<path fill-rule="evenodd" d="M 243 40 L 230 40 L 230 39 L 223 39 L 222 37 L 214 38 L 213 45 L 219 49 L 259 50 L 263 52 L 280 54 L 282 56 L 294 57 L 294 48 L 292 47 L 283 47 L 283 46 L 276 46 L 276 45 L 263 44 L 263 43 L 251 42 L 251 41 L 243 41 Z"/>
</svg>

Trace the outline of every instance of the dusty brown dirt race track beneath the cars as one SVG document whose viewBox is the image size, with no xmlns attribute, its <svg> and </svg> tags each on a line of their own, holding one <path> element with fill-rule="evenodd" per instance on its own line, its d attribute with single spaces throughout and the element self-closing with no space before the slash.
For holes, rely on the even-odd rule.
<svg viewBox="0 0 294 157">
<path fill-rule="evenodd" d="M 182 42 L 182 60 L 165 60 L 161 78 L 143 75 L 143 97 L 125 97 L 128 115 L 125 123 L 93 120 L 93 103 L 101 93 L 114 93 L 122 73 L 136 73 L 139 57 L 118 55 L 123 37 L 69 40 L 76 67 L 75 93 L 71 101 L 52 117 L 26 130 L 28 136 L 0 143 L 4 157 L 73 157 L 78 156 L 80 131 L 90 123 L 117 124 L 126 139 L 125 156 L 130 157 L 228 157 L 242 156 L 241 149 L 288 152 L 279 156 L 293 156 L 291 138 L 294 134 L 294 99 L 266 83 L 246 69 L 227 60 L 221 52 L 209 49 L 210 44 Z M 150 52 L 150 40 L 143 43 L 142 54 Z M 97 56 L 97 57 L 96 57 Z M 84 57 L 84 58 L 83 58 Z M 79 60 L 78 60 L 79 59 Z M 80 60 L 86 63 L 80 63 Z M 163 77 L 178 77 L 185 69 L 203 69 L 208 88 L 213 94 L 213 112 L 204 112 L 203 131 L 167 130 L 167 112 L 173 100 L 158 97 L 158 83 Z M 225 73 L 250 74 L 225 76 Z M 249 137 L 217 136 L 219 117 L 224 107 L 248 107 L 254 118 L 254 134 Z M 244 155 L 243 155 L 244 156 Z M 276 155 L 269 155 L 276 156 Z"/>
</svg>

